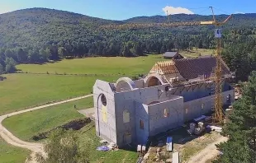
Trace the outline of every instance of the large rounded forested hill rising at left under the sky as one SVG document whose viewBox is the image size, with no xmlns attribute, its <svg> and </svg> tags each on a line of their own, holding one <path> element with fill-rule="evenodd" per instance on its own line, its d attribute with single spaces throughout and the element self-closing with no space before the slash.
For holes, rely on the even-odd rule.
<svg viewBox="0 0 256 163">
<path fill-rule="evenodd" d="M 90 29 L 107 21 L 72 12 L 32 8 L 0 15 L 0 47 L 52 44 L 77 40 L 91 34 Z"/>
</svg>

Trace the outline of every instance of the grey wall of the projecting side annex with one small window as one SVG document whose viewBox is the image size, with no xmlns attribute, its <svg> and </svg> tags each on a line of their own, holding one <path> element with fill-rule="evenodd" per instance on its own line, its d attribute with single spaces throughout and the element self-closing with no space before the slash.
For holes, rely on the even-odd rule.
<svg viewBox="0 0 256 163">
<path fill-rule="evenodd" d="M 149 136 L 165 132 L 183 124 L 183 97 L 176 96 L 158 104 L 149 105 Z M 166 109 L 168 115 L 164 114 Z"/>
</svg>

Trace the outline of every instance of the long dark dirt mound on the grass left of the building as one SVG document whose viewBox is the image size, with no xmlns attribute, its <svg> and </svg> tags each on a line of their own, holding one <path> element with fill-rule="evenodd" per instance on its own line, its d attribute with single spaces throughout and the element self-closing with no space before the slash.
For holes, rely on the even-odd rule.
<svg viewBox="0 0 256 163">
<path fill-rule="evenodd" d="M 39 141 L 39 140 L 42 140 L 42 139 L 45 139 L 45 138 L 49 137 L 50 133 L 53 132 L 55 129 L 63 128 L 63 129 L 66 129 L 66 130 L 69 130 L 69 129 L 79 130 L 79 129 L 83 128 L 84 126 L 86 126 L 88 123 L 91 123 L 91 122 L 92 122 L 92 120 L 90 118 L 75 119 L 73 121 L 70 121 L 69 123 L 65 123 L 61 126 L 58 126 L 57 128 L 53 128 L 50 131 L 46 131 L 46 132 L 43 132 L 43 133 L 38 133 L 38 134 L 34 135 L 31 138 L 35 141 Z"/>
</svg>

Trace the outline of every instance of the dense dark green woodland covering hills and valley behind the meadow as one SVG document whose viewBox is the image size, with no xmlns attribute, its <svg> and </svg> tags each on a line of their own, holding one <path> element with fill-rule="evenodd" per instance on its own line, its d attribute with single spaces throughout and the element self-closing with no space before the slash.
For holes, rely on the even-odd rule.
<svg viewBox="0 0 256 163">
<path fill-rule="evenodd" d="M 225 20 L 226 15 L 217 16 Z M 211 16 L 174 15 L 171 21 L 210 21 Z M 166 16 L 109 21 L 72 12 L 33 8 L 0 15 L 0 73 L 16 63 L 45 63 L 60 58 L 133 57 L 192 47 L 214 49 L 214 26 L 115 30 L 101 26 L 167 22 Z M 237 14 L 224 26 L 223 58 L 244 80 L 255 69 L 256 14 Z M 242 57 L 243 56 L 243 57 Z M 243 67 L 241 66 L 243 65 Z"/>
</svg>

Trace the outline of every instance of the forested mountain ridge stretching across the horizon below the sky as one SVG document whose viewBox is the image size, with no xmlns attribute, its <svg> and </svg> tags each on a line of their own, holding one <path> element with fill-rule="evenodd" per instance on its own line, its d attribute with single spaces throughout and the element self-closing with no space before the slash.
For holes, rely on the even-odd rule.
<svg viewBox="0 0 256 163">
<path fill-rule="evenodd" d="M 227 15 L 216 16 L 224 21 Z M 212 16 L 177 14 L 171 21 L 211 21 Z M 49 8 L 30 8 L 0 15 L 0 48 L 42 47 L 49 44 L 97 44 L 108 40 L 151 40 L 167 39 L 167 35 L 200 35 L 214 26 L 178 26 L 167 29 L 112 30 L 100 26 L 126 23 L 164 23 L 167 16 L 139 16 L 125 21 L 111 21 L 83 14 Z M 234 29 L 239 26 L 256 26 L 256 13 L 237 14 L 225 25 Z M 126 37 L 126 39 L 124 39 Z M 114 42 L 115 42 L 114 41 Z M 93 45 L 92 45 L 93 46 Z"/>
</svg>

